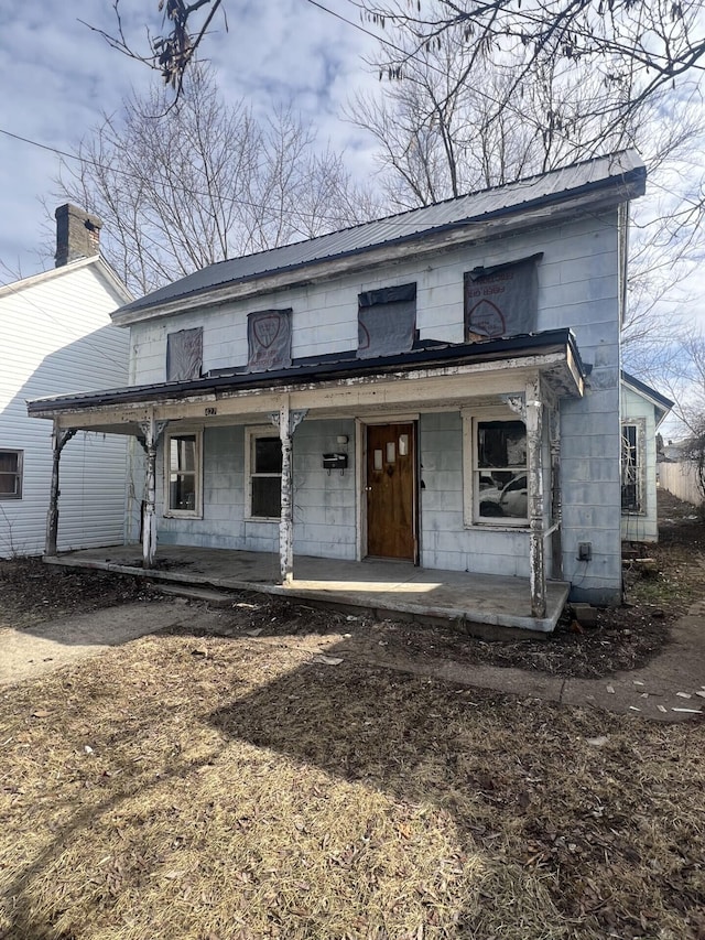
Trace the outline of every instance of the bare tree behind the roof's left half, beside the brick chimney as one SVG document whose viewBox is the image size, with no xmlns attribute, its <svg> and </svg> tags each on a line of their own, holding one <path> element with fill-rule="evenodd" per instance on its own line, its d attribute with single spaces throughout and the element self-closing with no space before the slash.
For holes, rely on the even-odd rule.
<svg viewBox="0 0 705 940">
<path fill-rule="evenodd" d="M 226 104 L 208 71 L 187 80 L 169 115 L 164 91 L 130 98 L 56 181 L 54 195 L 102 219 L 104 251 L 132 291 L 375 214 L 291 108 L 261 121 L 242 101 Z"/>
</svg>

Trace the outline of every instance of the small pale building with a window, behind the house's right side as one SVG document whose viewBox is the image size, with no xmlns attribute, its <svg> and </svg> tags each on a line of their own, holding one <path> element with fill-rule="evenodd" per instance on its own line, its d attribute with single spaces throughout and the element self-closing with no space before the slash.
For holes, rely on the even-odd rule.
<svg viewBox="0 0 705 940">
<path fill-rule="evenodd" d="M 659 539 L 657 431 L 672 408 L 671 399 L 622 371 L 621 537 L 625 541 Z"/>
</svg>

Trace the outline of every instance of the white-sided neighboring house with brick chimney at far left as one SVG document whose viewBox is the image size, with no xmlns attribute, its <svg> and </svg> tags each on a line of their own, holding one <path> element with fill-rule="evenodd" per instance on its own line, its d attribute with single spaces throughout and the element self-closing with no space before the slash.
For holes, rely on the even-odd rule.
<svg viewBox="0 0 705 940">
<path fill-rule="evenodd" d="M 52 426 L 28 399 L 122 386 L 129 336 L 110 314 L 131 296 L 98 253 L 100 222 L 56 210 L 56 267 L 0 287 L 0 557 L 44 551 Z M 61 465 L 61 549 L 122 542 L 126 439 L 78 432 Z"/>
</svg>

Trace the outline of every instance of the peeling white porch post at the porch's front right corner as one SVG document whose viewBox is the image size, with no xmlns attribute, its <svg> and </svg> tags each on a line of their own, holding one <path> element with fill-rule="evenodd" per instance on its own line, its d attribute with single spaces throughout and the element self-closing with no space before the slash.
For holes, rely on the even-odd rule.
<svg viewBox="0 0 705 940">
<path fill-rule="evenodd" d="M 541 382 L 538 377 L 527 382 L 525 410 L 531 616 L 545 617 L 546 571 L 543 551 L 543 461 L 541 446 L 543 401 Z"/>
</svg>

